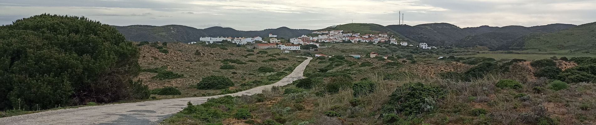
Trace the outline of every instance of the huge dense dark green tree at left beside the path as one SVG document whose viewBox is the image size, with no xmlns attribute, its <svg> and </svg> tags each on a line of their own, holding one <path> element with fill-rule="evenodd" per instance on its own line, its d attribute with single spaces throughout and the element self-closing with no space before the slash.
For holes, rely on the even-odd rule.
<svg viewBox="0 0 596 125">
<path fill-rule="evenodd" d="M 149 98 L 139 49 L 83 17 L 35 15 L 0 26 L 0 110 Z"/>
</svg>

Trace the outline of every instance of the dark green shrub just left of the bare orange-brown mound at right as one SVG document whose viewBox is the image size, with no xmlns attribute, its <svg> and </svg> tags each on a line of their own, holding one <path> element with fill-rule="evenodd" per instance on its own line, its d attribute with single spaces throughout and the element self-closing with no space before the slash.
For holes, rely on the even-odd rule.
<svg viewBox="0 0 596 125">
<path fill-rule="evenodd" d="M 487 61 L 482 62 L 473 68 L 468 69 L 462 74 L 464 81 L 471 81 L 474 78 L 483 78 L 486 73 L 493 72 L 498 67 L 495 62 Z"/>
</svg>

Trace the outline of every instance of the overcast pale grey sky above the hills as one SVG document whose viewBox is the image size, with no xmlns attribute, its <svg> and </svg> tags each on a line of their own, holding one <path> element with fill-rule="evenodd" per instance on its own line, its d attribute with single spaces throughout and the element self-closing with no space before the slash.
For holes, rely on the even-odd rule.
<svg viewBox="0 0 596 125">
<path fill-rule="evenodd" d="M 316 30 L 351 23 L 451 23 L 526 27 L 596 21 L 595 0 L 0 0 L 0 24 L 43 13 L 82 15 L 110 25 Z"/>
</svg>

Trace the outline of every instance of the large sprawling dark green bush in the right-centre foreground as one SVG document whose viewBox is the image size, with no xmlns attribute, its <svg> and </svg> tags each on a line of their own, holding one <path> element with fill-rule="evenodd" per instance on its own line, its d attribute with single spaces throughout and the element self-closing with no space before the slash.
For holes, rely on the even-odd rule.
<svg viewBox="0 0 596 125">
<path fill-rule="evenodd" d="M 432 111 L 435 99 L 445 96 L 445 90 L 440 86 L 425 85 L 420 82 L 408 83 L 393 91 L 382 108 L 383 113 L 420 114 Z"/>
</svg>

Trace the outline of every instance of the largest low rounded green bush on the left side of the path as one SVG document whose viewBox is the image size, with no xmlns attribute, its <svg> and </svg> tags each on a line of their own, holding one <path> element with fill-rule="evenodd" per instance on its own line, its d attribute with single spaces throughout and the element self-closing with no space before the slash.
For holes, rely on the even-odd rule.
<svg viewBox="0 0 596 125">
<path fill-rule="evenodd" d="M 226 89 L 234 86 L 234 82 L 225 76 L 207 76 L 197 84 L 198 89 Z"/>
</svg>

